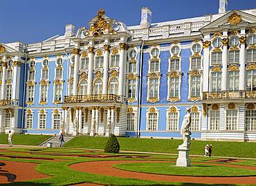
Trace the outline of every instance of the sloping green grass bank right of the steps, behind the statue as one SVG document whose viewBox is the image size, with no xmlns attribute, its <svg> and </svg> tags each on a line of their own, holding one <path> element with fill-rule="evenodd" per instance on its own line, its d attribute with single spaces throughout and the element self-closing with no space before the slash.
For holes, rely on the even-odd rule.
<svg viewBox="0 0 256 186">
<path fill-rule="evenodd" d="M 109 138 L 77 136 L 64 144 L 64 147 L 104 149 Z M 136 152 L 161 152 L 177 154 L 182 140 L 155 138 L 118 138 L 120 150 Z M 191 141 L 190 154 L 203 155 L 206 144 L 212 144 L 212 156 L 256 158 L 255 143 L 226 141 Z"/>
</svg>

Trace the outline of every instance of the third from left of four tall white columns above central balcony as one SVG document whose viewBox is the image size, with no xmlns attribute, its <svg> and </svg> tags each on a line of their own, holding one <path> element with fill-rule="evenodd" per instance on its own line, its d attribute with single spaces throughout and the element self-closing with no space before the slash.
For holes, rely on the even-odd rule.
<svg viewBox="0 0 256 186">
<path fill-rule="evenodd" d="M 104 45 L 104 71 L 103 71 L 103 89 L 102 94 L 107 94 L 107 82 L 109 79 L 109 48 L 110 45 Z"/>
</svg>

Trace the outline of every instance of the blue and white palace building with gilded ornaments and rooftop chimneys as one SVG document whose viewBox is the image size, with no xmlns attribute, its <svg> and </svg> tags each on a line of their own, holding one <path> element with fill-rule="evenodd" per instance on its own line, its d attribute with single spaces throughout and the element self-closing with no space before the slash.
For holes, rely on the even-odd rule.
<svg viewBox="0 0 256 186">
<path fill-rule="evenodd" d="M 105 15 L 0 43 L 0 132 L 256 141 L 256 9 L 140 25 Z"/>
</svg>

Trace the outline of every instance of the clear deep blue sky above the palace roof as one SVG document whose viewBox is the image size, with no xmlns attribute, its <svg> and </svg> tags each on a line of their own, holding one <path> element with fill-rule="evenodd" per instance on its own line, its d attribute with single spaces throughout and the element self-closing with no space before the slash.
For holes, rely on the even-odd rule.
<svg viewBox="0 0 256 186">
<path fill-rule="evenodd" d="M 152 10 L 152 23 L 217 14 L 219 0 L 1 0 L 0 42 L 37 43 L 64 34 L 68 23 L 75 30 L 102 8 L 107 17 L 126 25 L 140 24 L 140 8 Z M 228 10 L 256 8 L 256 0 L 229 0 Z"/>
</svg>

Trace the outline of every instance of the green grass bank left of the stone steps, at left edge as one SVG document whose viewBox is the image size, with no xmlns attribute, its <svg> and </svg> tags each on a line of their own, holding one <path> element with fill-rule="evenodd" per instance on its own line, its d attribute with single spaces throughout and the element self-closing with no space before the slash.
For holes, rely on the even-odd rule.
<svg viewBox="0 0 256 186">
<path fill-rule="evenodd" d="M 12 144 L 14 145 L 40 145 L 52 136 L 31 135 L 31 134 L 13 134 Z M 0 134 L 0 144 L 8 144 L 8 134 Z"/>
</svg>

